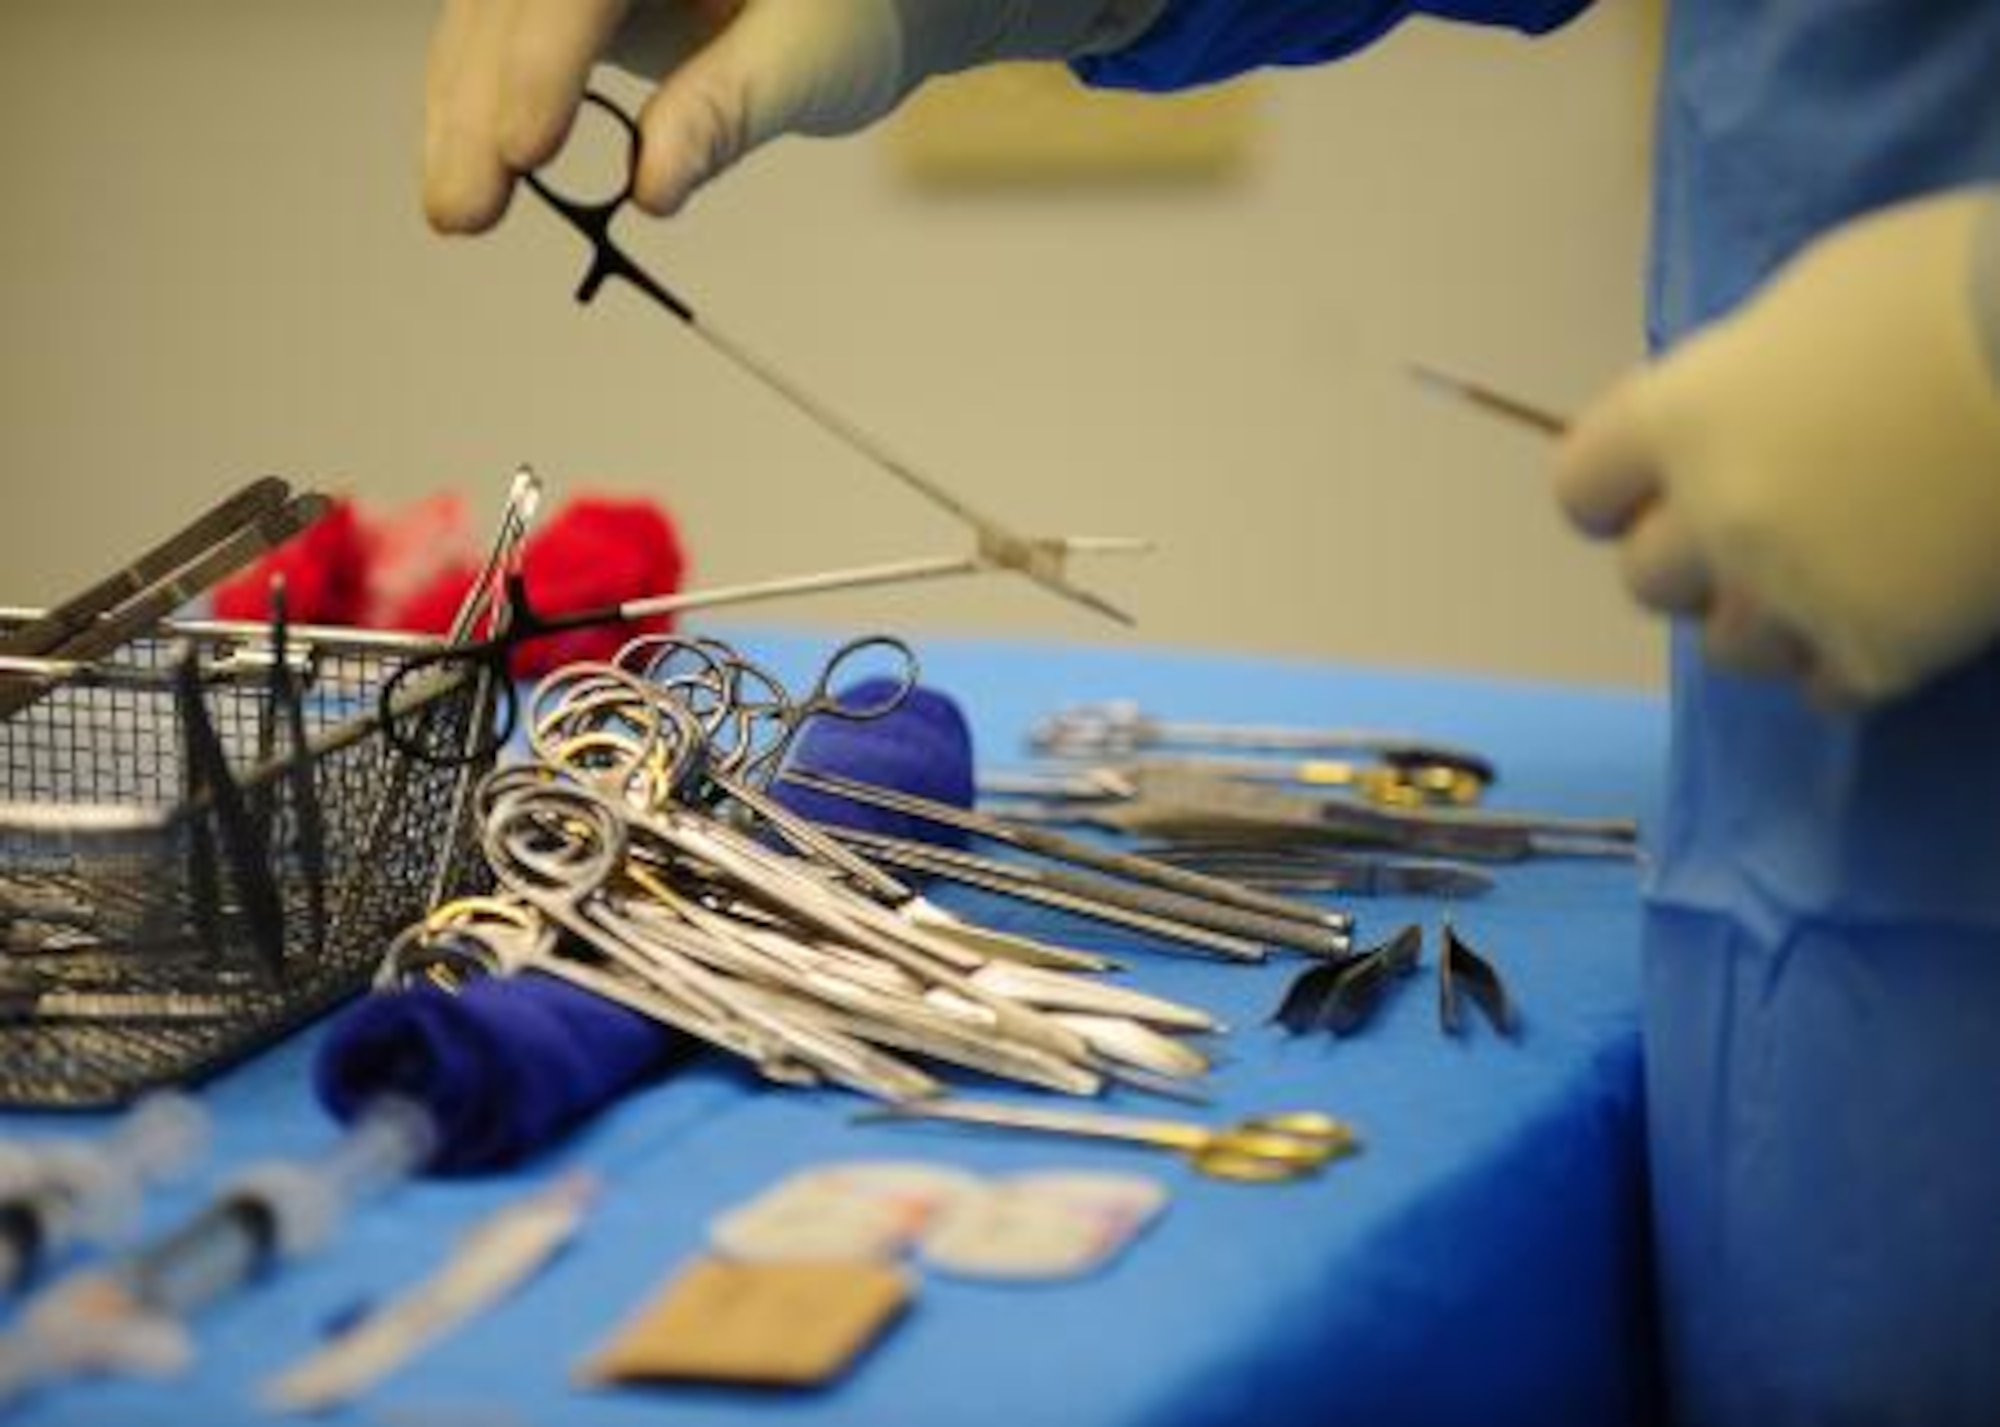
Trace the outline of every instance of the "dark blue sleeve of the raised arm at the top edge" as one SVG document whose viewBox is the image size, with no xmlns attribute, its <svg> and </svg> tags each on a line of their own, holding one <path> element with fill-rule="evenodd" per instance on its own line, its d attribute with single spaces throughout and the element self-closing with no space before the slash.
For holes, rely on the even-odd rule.
<svg viewBox="0 0 2000 1427">
<path fill-rule="evenodd" d="M 1410 16 L 1542 34 L 1590 0 L 1168 0 L 1132 46 L 1076 62 L 1086 84 L 1184 90 L 1266 64 L 1324 64 L 1374 44 Z"/>
</svg>

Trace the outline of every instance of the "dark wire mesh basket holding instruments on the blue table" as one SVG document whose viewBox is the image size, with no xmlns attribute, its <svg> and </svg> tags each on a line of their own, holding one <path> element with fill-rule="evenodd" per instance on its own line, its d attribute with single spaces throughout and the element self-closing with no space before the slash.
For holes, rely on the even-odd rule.
<svg viewBox="0 0 2000 1427">
<path fill-rule="evenodd" d="M 426 648 L 170 626 L 0 721 L 0 1103 L 216 1071 L 366 987 L 466 885 L 486 763 L 460 753 L 490 692 L 444 688 L 396 741 L 374 717 Z"/>
</svg>

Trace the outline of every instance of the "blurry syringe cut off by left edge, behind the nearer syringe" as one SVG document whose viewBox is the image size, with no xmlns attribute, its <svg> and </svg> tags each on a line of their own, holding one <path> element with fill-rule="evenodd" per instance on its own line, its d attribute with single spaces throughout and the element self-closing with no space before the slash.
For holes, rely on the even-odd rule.
<svg viewBox="0 0 2000 1427">
<path fill-rule="evenodd" d="M 74 1243 L 116 1243 L 138 1223 L 146 1187 L 192 1167 L 208 1113 L 174 1091 L 148 1095 L 102 1139 L 0 1143 L 0 1297 Z"/>
</svg>

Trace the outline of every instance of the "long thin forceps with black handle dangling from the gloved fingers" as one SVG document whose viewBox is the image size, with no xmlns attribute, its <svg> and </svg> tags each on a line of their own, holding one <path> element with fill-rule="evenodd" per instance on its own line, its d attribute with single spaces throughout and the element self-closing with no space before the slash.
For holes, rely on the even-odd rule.
<svg viewBox="0 0 2000 1427">
<path fill-rule="evenodd" d="M 626 166 L 624 180 L 610 198 L 602 200 L 580 200 L 568 194 L 556 192 L 540 174 L 526 174 L 528 188 L 556 210 L 564 222 L 568 222 L 582 238 L 590 244 L 590 266 L 584 270 L 582 282 L 576 286 L 578 302 L 592 302 L 598 292 L 610 280 L 622 280 L 638 288 L 642 294 L 652 298 L 660 308 L 678 318 L 682 326 L 694 336 L 708 344 L 712 352 L 726 358 L 740 372 L 748 374 L 760 382 L 766 390 L 784 400 L 792 410 L 802 414 L 822 432 L 838 440 L 848 450 L 864 456 L 872 466 L 892 476 L 902 486 L 914 490 L 918 496 L 928 500 L 932 506 L 954 516 L 958 522 L 968 526 L 978 538 L 978 560 L 988 566 L 998 566 L 1002 570 L 1014 570 L 1044 590 L 1072 602 L 1086 610 L 1096 610 L 1098 614 L 1116 620 L 1118 624 L 1132 624 L 1128 616 L 1118 606 L 1110 604 L 1098 594 L 1084 590 L 1070 582 L 1064 566 L 1068 556 L 1074 554 L 1130 554 L 1150 550 L 1152 542 L 1134 540 L 1126 536 L 1022 536 L 1008 530 L 1000 522 L 992 520 L 984 512 L 960 500 L 954 492 L 946 490 L 938 480 L 926 476 L 924 472 L 910 466 L 910 462 L 892 454 L 876 438 L 872 438 L 862 428 L 838 416 L 818 398 L 806 394 L 796 382 L 780 374 L 762 358 L 754 356 L 746 346 L 718 330 L 706 318 L 698 318 L 694 308 L 688 306 L 684 298 L 666 288 L 658 278 L 640 268 L 618 240 L 612 238 L 612 222 L 618 218 L 618 210 L 632 202 L 632 184 L 638 178 L 638 152 L 640 152 L 640 132 L 632 116 L 622 108 L 612 104 L 602 94 L 586 92 L 584 104 L 594 106 L 608 114 L 626 136 Z"/>
</svg>

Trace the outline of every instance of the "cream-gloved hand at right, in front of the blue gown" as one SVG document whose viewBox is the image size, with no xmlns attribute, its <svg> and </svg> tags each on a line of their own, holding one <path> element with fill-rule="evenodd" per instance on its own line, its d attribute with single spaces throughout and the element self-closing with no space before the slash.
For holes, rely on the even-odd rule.
<svg viewBox="0 0 2000 1427">
<path fill-rule="evenodd" d="M 1864 706 L 2000 634 L 1996 204 L 1846 224 L 1572 426 L 1562 506 L 1718 664 Z"/>
</svg>

